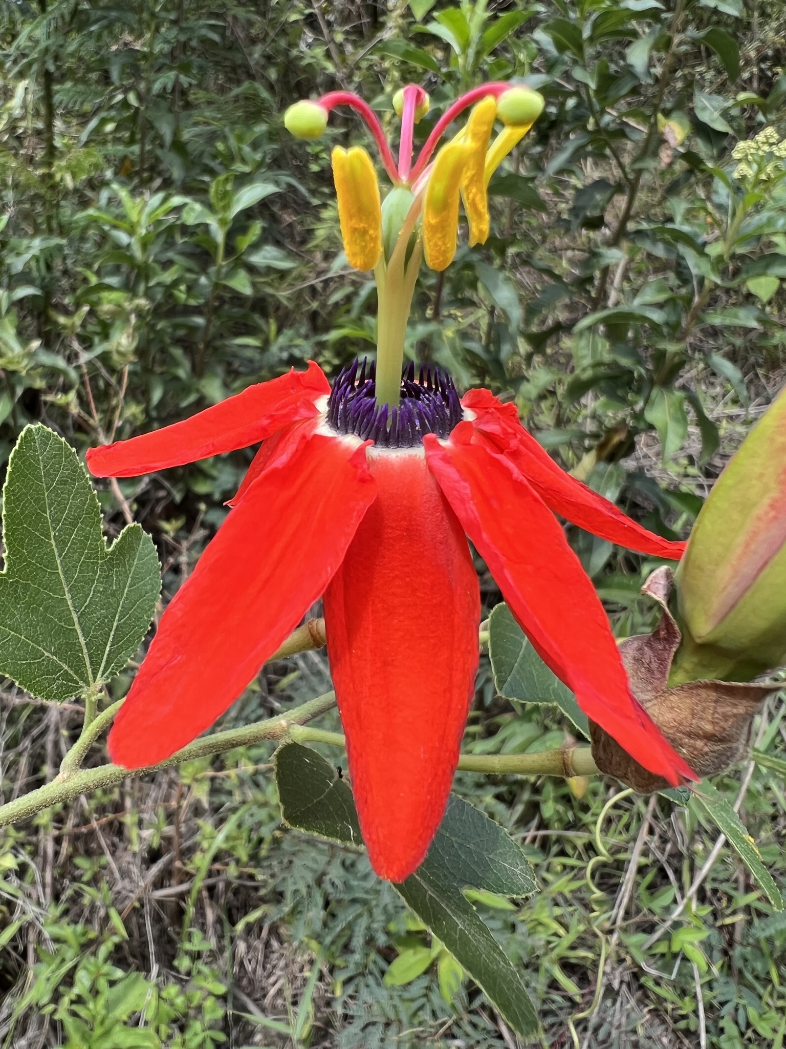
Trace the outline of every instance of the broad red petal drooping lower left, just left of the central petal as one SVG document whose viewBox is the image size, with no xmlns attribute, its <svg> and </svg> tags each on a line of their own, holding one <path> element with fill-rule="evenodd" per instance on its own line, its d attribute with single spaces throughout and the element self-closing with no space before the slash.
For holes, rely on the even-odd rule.
<svg viewBox="0 0 786 1049">
<path fill-rule="evenodd" d="M 356 438 L 316 435 L 230 512 L 169 603 L 109 734 L 127 768 L 184 746 L 243 691 L 324 592 L 376 486 Z"/>
</svg>

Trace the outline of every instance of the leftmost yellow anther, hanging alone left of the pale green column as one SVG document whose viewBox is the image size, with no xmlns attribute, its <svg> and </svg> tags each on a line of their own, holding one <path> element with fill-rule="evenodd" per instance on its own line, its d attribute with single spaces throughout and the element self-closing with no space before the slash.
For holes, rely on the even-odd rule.
<svg viewBox="0 0 786 1049">
<path fill-rule="evenodd" d="M 373 270 L 383 251 L 379 185 L 361 146 L 335 146 L 331 154 L 344 251 L 354 270 Z"/>
</svg>

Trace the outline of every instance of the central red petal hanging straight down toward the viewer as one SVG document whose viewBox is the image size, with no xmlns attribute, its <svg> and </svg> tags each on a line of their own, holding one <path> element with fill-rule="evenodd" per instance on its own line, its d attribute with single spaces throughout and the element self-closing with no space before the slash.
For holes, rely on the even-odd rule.
<svg viewBox="0 0 786 1049">
<path fill-rule="evenodd" d="M 422 453 L 369 453 L 377 499 L 325 594 L 330 669 L 371 863 L 402 881 L 442 818 L 478 667 L 463 530 Z"/>
</svg>

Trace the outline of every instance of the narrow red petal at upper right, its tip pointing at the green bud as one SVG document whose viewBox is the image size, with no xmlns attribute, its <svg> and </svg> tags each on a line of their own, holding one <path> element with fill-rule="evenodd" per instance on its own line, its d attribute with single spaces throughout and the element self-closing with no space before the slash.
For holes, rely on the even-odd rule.
<svg viewBox="0 0 786 1049">
<path fill-rule="evenodd" d="M 680 559 L 686 543 L 671 542 L 648 531 L 603 495 L 561 470 L 521 425 L 515 405 L 501 404 L 488 390 L 470 390 L 461 404 L 475 413 L 475 427 L 505 451 L 507 458 L 554 513 L 628 550 L 674 561 Z"/>
</svg>

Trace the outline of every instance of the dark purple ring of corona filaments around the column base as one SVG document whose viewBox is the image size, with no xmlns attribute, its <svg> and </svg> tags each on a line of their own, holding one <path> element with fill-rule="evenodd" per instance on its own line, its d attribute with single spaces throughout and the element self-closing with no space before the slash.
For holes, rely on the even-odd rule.
<svg viewBox="0 0 786 1049">
<path fill-rule="evenodd" d="M 344 368 L 333 383 L 327 421 L 337 433 L 354 433 L 377 448 L 417 448 L 425 433 L 447 437 L 463 419 L 453 380 L 436 365 L 405 369 L 396 408 L 375 401 L 376 366 L 364 359 Z"/>
</svg>

